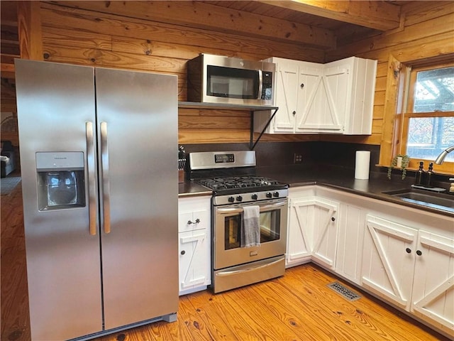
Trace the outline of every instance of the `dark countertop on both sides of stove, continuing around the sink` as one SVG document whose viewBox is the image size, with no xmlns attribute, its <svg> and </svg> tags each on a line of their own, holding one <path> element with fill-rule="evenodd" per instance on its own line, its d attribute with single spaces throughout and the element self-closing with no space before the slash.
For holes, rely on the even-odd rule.
<svg viewBox="0 0 454 341">
<path fill-rule="evenodd" d="M 406 177 L 404 180 L 400 176 L 392 177 L 392 180 L 387 178 L 387 173 L 371 172 L 369 180 L 356 180 L 355 171 L 347 168 L 323 168 L 323 170 L 308 169 L 304 166 L 282 166 L 282 167 L 258 167 L 257 175 L 265 176 L 278 180 L 282 183 L 288 183 L 289 186 L 297 187 L 304 185 L 323 185 L 328 188 L 343 190 L 356 195 L 365 195 L 378 200 L 394 202 L 407 207 L 414 207 L 419 210 L 434 212 L 441 215 L 454 217 L 454 209 L 443 210 L 436 205 L 420 205 L 415 202 L 402 200 L 400 197 L 384 194 L 392 190 L 410 189 L 414 183 L 412 177 Z M 436 184 L 442 188 L 448 188 L 449 183 Z M 211 195 L 211 190 L 204 186 L 197 185 L 187 180 L 185 183 L 179 184 L 179 197 L 194 195 Z M 454 195 L 453 195 L 454 200 Z"/>
</svg>

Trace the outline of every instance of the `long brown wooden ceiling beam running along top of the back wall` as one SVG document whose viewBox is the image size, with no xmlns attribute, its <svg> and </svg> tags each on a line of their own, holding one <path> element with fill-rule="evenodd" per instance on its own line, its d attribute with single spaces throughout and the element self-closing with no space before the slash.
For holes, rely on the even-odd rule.
<svg viewBox="0 0 454 341">
<path fill-rule="evenodd" d="M 52 1 L 52 4 L 323 49 L 336 48 L 333 31 L 201 1 Z"/>
</svg>

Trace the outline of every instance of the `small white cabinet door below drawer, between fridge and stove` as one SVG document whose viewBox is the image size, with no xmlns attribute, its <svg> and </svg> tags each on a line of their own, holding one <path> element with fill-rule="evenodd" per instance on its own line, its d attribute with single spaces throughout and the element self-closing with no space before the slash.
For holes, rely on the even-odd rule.
<svg viewBox="0 0 454 341">
<path fill-rule="evenodd" d="M 206 229 L 179 233 L 179 291 L 206 286 L 209 281 L 209 243 Z"/>
</svg>

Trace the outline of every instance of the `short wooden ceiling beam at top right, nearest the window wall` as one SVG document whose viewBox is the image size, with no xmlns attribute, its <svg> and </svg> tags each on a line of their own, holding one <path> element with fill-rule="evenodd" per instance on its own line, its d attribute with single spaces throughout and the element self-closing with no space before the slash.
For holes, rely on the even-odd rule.
<svg viewBox="0 0 454 341">
<path fill-rule="evenodd" d="M 379 31 L 392 30 L 400 25 L 400 6 L 384 1 L 260 0 L 259 2 Z"/>
</svg>

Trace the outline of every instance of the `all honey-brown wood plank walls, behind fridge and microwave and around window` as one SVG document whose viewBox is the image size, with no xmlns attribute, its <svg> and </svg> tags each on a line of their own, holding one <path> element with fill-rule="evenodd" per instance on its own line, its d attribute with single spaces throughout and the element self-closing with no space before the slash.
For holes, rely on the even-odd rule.
<svg viewBox="0 0 454 341">
<path fill-rule="evenodd" d="M 82 4 L 83 1 L 81 1 Z M 89 1 L 88 1 L 89 2 Z M 89 5 L 87 5 L 89 6 Z M 356 55 L 379 60 L 372 136 L 265 135 L 262 141 L 345 141 L 382 144 L 389 55 L 402 60 L 453 53 L 453 1 L 412 1 L 402 7 L 401 27 L 325 53 L 309 46 L 254 36 L 201 30 L 175 23 L 118 16 L 100 11 L 41 3 L 44 60 L 152 70 L 178 75 L 179 100 L 186 97 L 187 60 L 216 53 L 259 60 L 270 56 L 318 63 Z M 184 15 L 173 8 L 174 16 Z M 204 13 L 201 13 L 201 18 Z M 386 122 L 385 122 L 386 123 Z M 389 124 L 389 123 L 388 123 Z M 249 140 L 249 113 L 180 109 L 179 143 Z M 389 131 L 389 130 L 388 130 Z M 389 132 L 387 132 L 389 134 Z"/>
</svg>

